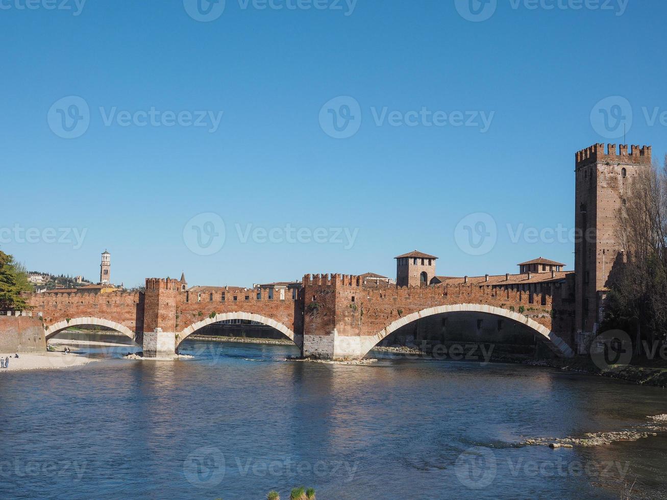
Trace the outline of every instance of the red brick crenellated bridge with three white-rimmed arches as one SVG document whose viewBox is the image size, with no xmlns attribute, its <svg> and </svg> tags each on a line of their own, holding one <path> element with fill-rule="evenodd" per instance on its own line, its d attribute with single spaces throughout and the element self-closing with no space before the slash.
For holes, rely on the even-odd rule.
<svg viewBox="0 0 667 500">
<path fill-rule="evenodd" d="M 360 358 L 400 327 L 459 311 L 522 323 L 557 355 L 573 355 L 572 315 L 562 299 L 566 294 L 554 283 L 367 287 L 362 277 L 333 274 L 305 275 L 301 290 L 285 299 L 260 288 L 201 290 L 186 291 L 176 279 L 148 278 L 145 292 L 35 293 L 29 304 L 41 314 L 47 339 L 75 325 L 99 325 L 124 333 L 147 357 L 173 355 L 211 323 L 247 319 L 277 329 L 305 356 Z"/>
</svg>

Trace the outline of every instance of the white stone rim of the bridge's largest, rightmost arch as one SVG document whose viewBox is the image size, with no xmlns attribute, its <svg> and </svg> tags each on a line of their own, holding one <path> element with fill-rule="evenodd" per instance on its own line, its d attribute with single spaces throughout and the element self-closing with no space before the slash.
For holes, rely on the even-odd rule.
<svg viewBox="0 0 667 500">
<path fill-rule="evenodd" d="M 372 337 L 366 337 L 362 339 L 362 357 L 368 354 L 368 351 L 373 349 L 378 342 L 387 337 L 390 333 L 398 330 L 400 327 L 408 325 L 420 318 L 443 314 L 443 313 L 455 313 L 455 312 L 474 312 L 474 313 L 487 313 L 493 314 L 500 317 L 505 317 L 512 319 L 518 323 L 523 323 L 527 327 L 533 329 L 538 335 L 538 339 L 542 339 L 550 347 L 556 355 L 560 357 L 573 357 L 574 352 L 572 348 L 558 335 L 552 332 L 550 329 L 544 325 L 540 325 L 537 321 L 530 319 L 520 313 L 514 313 L 508 309 L 502 309 L 502 307 L 494 307 L 492 305 L 483 305 L 483 304 L 456 304 L 456 305 L 440 305 L 438 307 L 430 307 L 428 309 L 422 309 L 422 311 L 417 311 L 416 313 L 409 314 L 401 319 L 397 319 L 388 327 L 384 328 L 382 331 L 372 335 Z"/>
</svg>

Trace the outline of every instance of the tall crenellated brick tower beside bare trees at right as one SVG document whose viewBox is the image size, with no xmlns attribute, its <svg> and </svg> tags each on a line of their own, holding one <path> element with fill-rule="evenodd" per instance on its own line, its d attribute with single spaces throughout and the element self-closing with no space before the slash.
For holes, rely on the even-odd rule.
<svg viewBox="0 0 667 500">
<path fill-rule="evenodd" d="M 598 331 L 604 296 L 614 266 L 622 261 L 617 215 L 630 179 L 651 165 L 650 146 L 595 144 L 575 156 L 575 325 L 579 333 Z"/>
</svg>

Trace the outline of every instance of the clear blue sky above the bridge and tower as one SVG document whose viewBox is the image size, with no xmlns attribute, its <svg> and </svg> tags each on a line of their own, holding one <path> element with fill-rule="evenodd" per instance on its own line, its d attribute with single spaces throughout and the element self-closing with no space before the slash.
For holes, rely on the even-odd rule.
<svg viewBox="0 0 667 500">
<path fill-rule="evenodd" d="M 664 2 L 630 1 L 621 11 L 616 0 L 615 10 L 501 1 L 490 19 L 471 22 L 454 0 L 358 0 L 354 11 L 319 1 L 327 9 L 227 0 L 217 19 L 199 22 L 183 0 L 89 0 L 79 15 L 74 0 L 73 11 L 3 0 L 0 249 L 30 269 L 95 280 L 109 249 L 112 279 L 126 286 L 181 271 L 191 285 L 304 273 L 394 277 L 393 257 L 412 249 L 438 255 L 441 275 L 514 272 L 540 255 L 572 268 L 567 238 L 532 243 L 510 232 L 572 228 L 574 152 L 622 142 L 600 135 L 590 118 L 596 103 L 627 99 L 628 143 L 664 155 L 666 124 L 642 111 L 667 111 Z M 74 139 L 53 130 L 52 107 L 67 96 L 89 106 L 89 126 Z M 339 96 L 353 97 L 362 119 L 345 139 L 327 135 L 327 109 L 324 125 L 319 118 Z M 142 127 L 143 115 L 105 125 L 114 109 L 151 107 L 223 115 L 214 132 Z M 419 120 L 396 127 L 388 117 L 377 125 L 374 113 L 385 107 L 399 116 L 422 108 L 494 114 L 484 132 Z M 344 113 L 340 102 L 331 109 Z M 225 224 L 213 255 L 184 239 L 200 213 Z M 456 242 L 471 213 L 498 227 L 483 255 Z M 287 224 L 324 228 L 320 237 L 334 241 L 287 243 Z M 37 241 L 10 234 L 14 227 L 36 229 Z M 201 227 L 203 237 L 211 227 L 219 233 Z M 338 227 L 358 229 L 354 244 L 336 242 Z M 72 235 L 51 242 L 48 228 L 87 232 L 78 247 Z M 264 241 L 260 231 L 244 242 L 248 228 L 277 228 L 276 237 Z"/>
</svg>

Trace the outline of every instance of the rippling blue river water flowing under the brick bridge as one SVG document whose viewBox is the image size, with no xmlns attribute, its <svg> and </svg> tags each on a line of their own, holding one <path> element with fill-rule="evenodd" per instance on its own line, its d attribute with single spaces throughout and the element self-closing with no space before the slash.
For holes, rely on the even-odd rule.
<svg viewBox="0 0 667 500">
<path fill-rule="evenodd" d="M 1 497 L 665 497 L 663 433 L 520 445 L 642 426 L 667 413 L 664 389 L 496 363 L 283 361 L 298 354 L 283 345 L 187 341 L 194 358 L 168 362 L 79 349 L 102 361 L 0 376 Z"/>
</svg>

